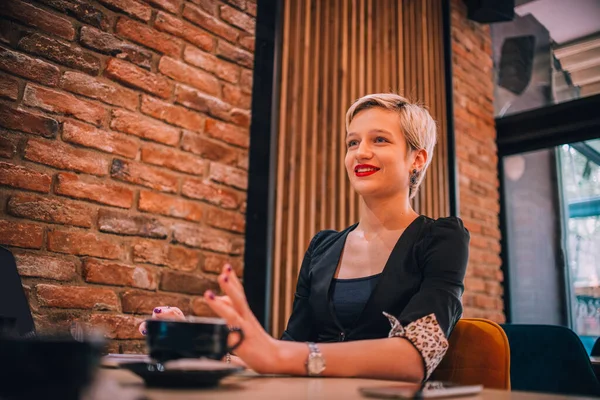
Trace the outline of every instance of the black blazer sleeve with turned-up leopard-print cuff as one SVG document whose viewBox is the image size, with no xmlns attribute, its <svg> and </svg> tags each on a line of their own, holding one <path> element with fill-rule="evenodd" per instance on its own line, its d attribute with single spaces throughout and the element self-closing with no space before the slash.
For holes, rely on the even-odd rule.
<svg viewBox="0 0 600 400">
<path fill-rule="evenodd" d="M 389 336 L 408 339 L 421 354 L 425 379 L 446 354 L 447 338 L 462 315 L 469 240 L 459 218 L 435 221 L 417 249 L 423 276 L 419 291 L 400 315 L 384 313 L 392 325 Z"/>
</svg>

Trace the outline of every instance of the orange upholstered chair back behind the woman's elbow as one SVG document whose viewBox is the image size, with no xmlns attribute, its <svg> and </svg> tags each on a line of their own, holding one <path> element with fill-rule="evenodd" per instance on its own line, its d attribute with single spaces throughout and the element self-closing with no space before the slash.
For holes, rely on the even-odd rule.
<svg viewBox="0 0 600 400">
<path fill-rule="evenodd" d="M 510 390 L 510 347 L 504 330 L 487 319 L 459 320 L 431 379 Z"/>
</svg>

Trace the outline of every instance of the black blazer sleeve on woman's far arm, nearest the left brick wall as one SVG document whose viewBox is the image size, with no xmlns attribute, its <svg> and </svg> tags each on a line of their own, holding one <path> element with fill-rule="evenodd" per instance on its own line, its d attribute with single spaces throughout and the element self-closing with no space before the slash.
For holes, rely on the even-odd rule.
<svg viewBox="0 0 600 400">
<path fill-rule="evenodd" d="M 308 342 L 316 340 L 316 331 L 314 324 L 314 316 L 308 298 L 310 295 L 310 263 L 315 251 L 315 248 L 320 243 L 324 235 L 328 231 L 317 233 L 308 246 L 308 250 L 304 253 L 300 273 L 298 275 L 298 284 L 296 285 L 296 293 L 294 294 L 294 305 L 292 307 L 292 315 L 288 320 L 287 328 L 281 336 L 281 340 L 289 340 L 295 342 Z"/>
</svg>

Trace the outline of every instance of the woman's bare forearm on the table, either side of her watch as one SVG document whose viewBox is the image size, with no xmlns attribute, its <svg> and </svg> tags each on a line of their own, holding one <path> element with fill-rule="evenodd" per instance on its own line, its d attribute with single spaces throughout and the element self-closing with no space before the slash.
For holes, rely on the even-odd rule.
<svg viewBox="0 0 600 400">
<path fill-rule="evenodd" d="M 306 343 L 279 341 L 275 373 L 306 375 Z M 423 360 L 403 338 L 319 343 L 325 359 L 323 376 L 394 379 L 419 382 L 425 374 Z"/>
</svg>

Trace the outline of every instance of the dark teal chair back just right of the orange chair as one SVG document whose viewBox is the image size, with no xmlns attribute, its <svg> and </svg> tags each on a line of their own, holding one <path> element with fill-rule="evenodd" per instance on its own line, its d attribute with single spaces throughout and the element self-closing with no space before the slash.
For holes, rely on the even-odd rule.
<svg viewBox="0 0 600 400">
<path fill-rule="evenodd" d="M 514 390 L 600 396 L 600 384 L 579 337 L 552 325 L 505 324 Z"/>
</svg>

